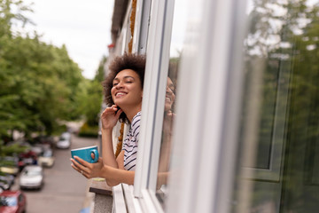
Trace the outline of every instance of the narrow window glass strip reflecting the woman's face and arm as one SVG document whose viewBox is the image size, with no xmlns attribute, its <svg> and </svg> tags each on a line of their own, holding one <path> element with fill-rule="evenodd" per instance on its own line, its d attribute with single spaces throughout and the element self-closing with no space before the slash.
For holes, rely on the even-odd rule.
<svg viewBox="0 0 319 213">
<path fill-rule="evenodd" d="M 159 170 L 157 179 L 156 197 L 161 203 L 163 209 L 168 196 L 167 179 L 170 172 L 172 138 L 174 135 L 174 122 L 177 116 L 175 112 L 175 99 L 178 95 L 178 64 L 183 51 L 183 37 L 186 28 L 186 8 L 187 4 L 183 0 L 175 1 L 175 11 L 173 19 L 172 38 L 169 55 L 169 66 L 167 75 L 167 87 L 164 115 L 163 115 L 163 129 L 159 153 Z"/>
</svg>

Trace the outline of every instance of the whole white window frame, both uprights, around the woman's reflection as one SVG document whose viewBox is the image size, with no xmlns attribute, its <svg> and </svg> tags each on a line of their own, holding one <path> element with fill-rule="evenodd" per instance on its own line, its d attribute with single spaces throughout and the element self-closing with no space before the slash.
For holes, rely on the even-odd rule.
<svg viewBox="0 0 319 213">
<path fill-rule="evenodd" d="M 167 24 L 173 22 L 173 14 L 170 20 L 164 19 L 170 1 L 153 0 L 151 7 L 144 78 L 147 99 L 142 106 L 135 183 L 134 189 L 123 187 L 125 193 L 133 193 L 130 199 L 134 200 L 131 203 L 136 212 L 163 212 L 154 197 L 154 174 L 158 167 L 165 101 L 162 92 L 167 81 L 171 33 L 164 26 L 168 28 Z M 228 212 L 237 148 L 245 0 L 199 0 L 192 7 L 197 7 L 201 19 L 192 20 L 190 13 L 188 20 L 195 28 L 189 28 L 191 39 L 186 38 L 181 63 L 176 112 L 183 116 L 176 116 L 173 164 L 178 161 L 175 154 L 182 152 L 188 157 L 180 168 L 182 181 L 176 180 L 175 173 L 169 179 L 167 212 Z M 207 91 L 212 93 L 207 96 Z"/>
</svg>

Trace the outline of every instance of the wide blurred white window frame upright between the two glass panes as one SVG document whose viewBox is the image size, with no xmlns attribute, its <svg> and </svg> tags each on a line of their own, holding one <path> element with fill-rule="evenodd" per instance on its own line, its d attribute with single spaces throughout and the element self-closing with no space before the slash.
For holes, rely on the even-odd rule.
<svg viewBox="0 0 319 213">
<path fill-rule="evenodd" d="M 245 4 L 245 0 L 200 0 L 192 4 L 180 65 L 183 72 L 179 73 L 173 139 L 173 167 L 183 163 L 169 181 L 167 212 L 230 210 Z M 187 157 L 178 159 L 181 153 Z"/>
</svg>

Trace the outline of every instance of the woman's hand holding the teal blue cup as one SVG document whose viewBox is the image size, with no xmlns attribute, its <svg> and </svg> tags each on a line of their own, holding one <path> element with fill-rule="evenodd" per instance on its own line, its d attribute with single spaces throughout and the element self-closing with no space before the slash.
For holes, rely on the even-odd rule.
<svg viewBox="0 0 319 213">
<path fill-rule="evenodd" d="M 75 161 L 75 160 L 76 161 Z M 71 166 L 74 170 L 77 170 L 79 173 L 81 173 L 84 177 L 93 178 L 93 177 L 100 177 L 101 176 L 101 170 L 104 167 L 102 158 L 98 158 L 98 161 L 95 163 L 89 163 L 78 156 L 74 156 L 74 159 L 71 158 Z M 80 163 L 79 163 L 80 162 Z"/>
</svg>

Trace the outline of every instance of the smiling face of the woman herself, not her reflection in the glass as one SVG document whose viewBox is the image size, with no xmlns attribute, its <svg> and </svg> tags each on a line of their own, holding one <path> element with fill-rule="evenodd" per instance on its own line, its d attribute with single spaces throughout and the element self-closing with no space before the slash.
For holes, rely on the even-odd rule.
<svg viewBox="0 0 319 213">
<path fill-rule="evenodd" d="M 113 79 L 111 95 L 114 104 L 125 111 L 142 107 L 143 90 L 141 80 L 132 69 L 124 69 Z"/>
</svg>

